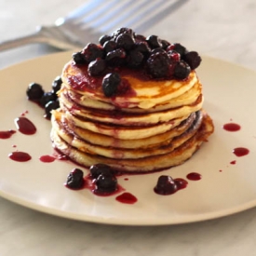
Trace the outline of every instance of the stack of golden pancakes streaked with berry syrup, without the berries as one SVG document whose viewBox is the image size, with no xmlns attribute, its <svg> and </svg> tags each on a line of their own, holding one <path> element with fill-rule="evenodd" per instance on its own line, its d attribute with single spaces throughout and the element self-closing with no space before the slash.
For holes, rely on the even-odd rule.
<svg viewBox="0 0 256 256">
<path fill-rule="evenodd" d="M 195 71 L 184 80 L 145 79 L 125 68 L 119 74 L 120 93 L 106 97 L 102 77 L 74 61 L 65 65 L 51 130 L 61 154 L 84 167 L 149 172 L 181 165 L 207 141 L 213 124 Z"/>
</svg>

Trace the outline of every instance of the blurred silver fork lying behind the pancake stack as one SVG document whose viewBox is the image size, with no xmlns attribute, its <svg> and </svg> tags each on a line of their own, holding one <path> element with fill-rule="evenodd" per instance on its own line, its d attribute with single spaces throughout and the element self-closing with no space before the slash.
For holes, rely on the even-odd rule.
<svg viewBox="0 0 256 256">
<path fill-rule="evenodd" d="M 44 43 L 60 49 L 84 47 L 97 42 L 101 34 L 119 27 L 143 33 L 163 20 L 188 0 L 91 0 L 75 9 L 53 26 L 39 26 L 34 34 L 0 43 L 0 51 L 32 43 Z"/>
</svg>

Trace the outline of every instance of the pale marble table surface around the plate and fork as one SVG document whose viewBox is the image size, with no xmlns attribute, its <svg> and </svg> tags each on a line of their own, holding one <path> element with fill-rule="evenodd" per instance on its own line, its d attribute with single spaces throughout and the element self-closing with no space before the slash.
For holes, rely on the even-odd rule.
<svg viewBox="0 0 256 256">
<path fill-rule="evenodd" d="M 34 32 L 85 1 L 0 0 L 1 40 Z M 256 70 L 256 2 L 189 0 L 148 29 L 172 42 Z M 0 68 L 56 52 L 44 45 L 0 53 Z M 3 90 L 3 85 L 1 90 Z M 255 255 L 256 209 L 207 222 L 115 226 L 76 222 L 0 198 L 0 254 L 6 255 Z"/>
</svg>

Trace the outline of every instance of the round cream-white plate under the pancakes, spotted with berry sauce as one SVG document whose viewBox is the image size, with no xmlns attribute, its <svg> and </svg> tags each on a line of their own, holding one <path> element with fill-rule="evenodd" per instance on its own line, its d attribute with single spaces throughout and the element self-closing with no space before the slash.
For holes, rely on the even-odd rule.
<svg viewBox="0 0 256 256">
<path fill-rule="evenodd" d="M 125 176 L 118 182 L 135 195 L 133 205 L 101 197 L 89 190 L 72 191 L 63 183 L 72 168 L 67 161 L 43 163 L 42 155 L 51 155 L 50 122 L 44 111 L 27 101 L 25 90 L 31 82 L 49 89 L 71 53 L 49 55 L 26 61 L 0 72 L 0 130 L 15 129 L 14 119 L 28 111 L 37 132 L 32 136 L 19 131 L 10 139 L 0 139 L 0 195 L 22 206 L 74 220 L 123 225 L 157 225 L 197 222 L 233 214 L 256 205 L 256 73 L 234 64 L 203 58 L 198 69 L 204 86 L 205 109 L 214 120 L 215 132 L 209 142 L 185 164 L 161 173 Z M 227 132 L 222 125 L 241 125 Z M 13 147 L 16 145 L 17 147 Z M 246 147 L 249 155 L 236 157 L 233 149 Z M 23 151 L 31 161 L 10 160 L 8 154 Z M 236 165 L 230 164 L 236 160 Z M 222 171 L 221 171 L 222 170 Z M 87 170 L 85 170 L 87 171 Z M 189 182 L 174 195 L 156 195 L 153 191 L 160 174 L 183 178 L 198 172 L 202 179 Z"/>
</svg>

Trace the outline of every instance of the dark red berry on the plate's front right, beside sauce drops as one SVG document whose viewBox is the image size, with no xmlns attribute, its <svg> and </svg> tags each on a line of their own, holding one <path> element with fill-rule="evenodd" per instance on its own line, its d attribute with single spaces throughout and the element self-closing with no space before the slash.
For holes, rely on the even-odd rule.
<svg viewBox="0 0 256 256">
<path fill-rule="evenodd" d="M 155 193 L 160 195 L 171 195 L 178 190 L 176 182 L 168 175 L 162 175 L 158 178 L 155 186 Z"/>
</svg>

